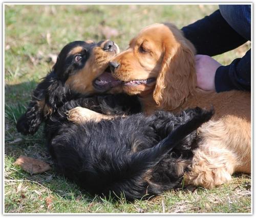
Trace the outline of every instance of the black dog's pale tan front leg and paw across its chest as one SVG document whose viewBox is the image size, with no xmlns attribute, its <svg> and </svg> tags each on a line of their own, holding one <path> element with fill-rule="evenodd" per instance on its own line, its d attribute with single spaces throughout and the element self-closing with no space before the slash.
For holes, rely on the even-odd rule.
<svg viewBox="0 0 256 218">
<path fill-rule="evenodd" d="M 114 115 L 105 115 L 82 107 L 73 108 L 67 113 L 68 120 L 77 124 L 89 121 L 100 122 L 101 119 L 112 119 L 115 117 Z"/>
</svg>

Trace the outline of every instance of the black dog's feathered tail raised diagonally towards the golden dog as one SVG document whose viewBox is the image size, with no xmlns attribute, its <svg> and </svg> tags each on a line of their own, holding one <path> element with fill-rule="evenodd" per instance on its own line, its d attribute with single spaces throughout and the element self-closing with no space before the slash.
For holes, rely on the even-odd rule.
<svg viewBox="0 0 256 218">
<path fill-rule="evenodd" d="M 117 182 L 110 187 L 109 190 L 113 190 L 115 193 L 123 192 L 126 199 L 138 199 L 141 198 L 145 192 L 141 192 L 143 188 L 142 182 L 143 175 L 154 167 L 159 161 L 161 161 L 168 152 L 178 146 L 182 139 L 188 134 L 197 130 L 203 123 L 207 122 L 214 114 L 214 109 L 203 110 L 198 108 L 198 113 L 188 120 L 185 124 L 180 125 L 169 135 L 161 140 L 155 147 L 145 149 L 137 153 L 133 153 L 129 157 L 129 167 L 124 172 L 123 176 L 125 180 Z M 138 187 L 136 187 L 136 185 Z M 129 188 L 127 188 L 129 187 Z"/>
</svg>

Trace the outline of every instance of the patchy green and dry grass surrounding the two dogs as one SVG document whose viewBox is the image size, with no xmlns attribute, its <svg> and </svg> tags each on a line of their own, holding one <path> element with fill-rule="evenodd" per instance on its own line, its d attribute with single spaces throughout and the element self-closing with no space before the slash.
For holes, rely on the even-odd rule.
<svg viewBox="0 0 256 218">
<path fill-rule="evenodd" d="M 6 213 L 250 213 L 250 177 L 233 176 L 212 190 L 171 190 L 147 201 L 114 201 L 90 196 L 50 172 L 30 175 L 14 166 L 19 155 L 52 160 L 42 128 L 34 136 L 17 133 L 15 123 L 26 110 L 32 90 L 53 63 L 50 54 L 74 40 L 102 40 L 100 23 L 116 29 L 111 37 L 121 50 L 143 27 L 169 21 L 179 28 L 215 11 L 216 5 L 9 5 L 5 6 L 5 212 Z M 215 57 L 222 64 L 241 57 L 249 44 Z M 53 204 L 48 207 L 46 199 Z"/>
</svg>

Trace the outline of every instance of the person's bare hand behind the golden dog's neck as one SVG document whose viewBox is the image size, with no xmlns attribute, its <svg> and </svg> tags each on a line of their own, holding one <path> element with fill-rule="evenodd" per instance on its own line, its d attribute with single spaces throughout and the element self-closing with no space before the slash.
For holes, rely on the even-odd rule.
<svg viewBox="0 0 256 218">
<path fill-rule="evenodd" d="M 207 55 L 196 55 L 197 86 L 205 91 L 215 91 L 215 73 L 221 64 Z"/>
</svg>

